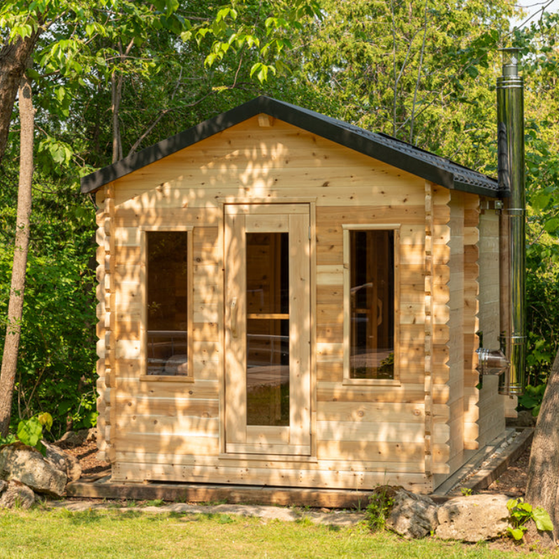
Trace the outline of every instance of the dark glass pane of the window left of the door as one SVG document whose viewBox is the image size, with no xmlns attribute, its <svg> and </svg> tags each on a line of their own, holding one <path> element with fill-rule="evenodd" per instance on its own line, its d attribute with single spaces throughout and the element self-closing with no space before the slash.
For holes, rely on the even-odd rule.
<svg viewBox="0 0 559 559">
<path fill-rule="evenodd" d="M 147 374 L 188 376 L 188 233 L 147 233 Z"/>
</svg>

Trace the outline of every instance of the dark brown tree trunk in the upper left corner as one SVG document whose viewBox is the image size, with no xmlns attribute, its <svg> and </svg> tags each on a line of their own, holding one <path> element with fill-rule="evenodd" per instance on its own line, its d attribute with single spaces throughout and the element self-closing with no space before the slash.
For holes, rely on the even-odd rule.
<svg viewBox="0 0 559 559">
<path fill-rule="evenodd" d="M 35 49 L 40 34 L 41 26 L 29 37 L 18 38 L 13 43 L 5 43 L 0 49 L 0 161 L 8 144 L 8 131 L 10 131 L 17 88 L 20 87 L 27 61 Z"/>
</svg>

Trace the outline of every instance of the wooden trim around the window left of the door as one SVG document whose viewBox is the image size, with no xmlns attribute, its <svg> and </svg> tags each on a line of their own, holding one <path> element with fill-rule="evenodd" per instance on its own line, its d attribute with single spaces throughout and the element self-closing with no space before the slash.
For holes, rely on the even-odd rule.
<svg viewBox="0 0 559 559">
<path fill-rule="evenodd" d="M 194 241 L 192 238 L 192 225 L 143 225 L 140 226 L 140 300 L 142 310 L 140 314 L 140 381 L 155 382 L 194 382 L 194 359 L 192 354 L 192 328 L 194 323 L 194 307 L 192 289 L 194 286 L 194 261 L 192 251 Z M 187 233 L 187 354 L 189 376 L 180 375 L 147 375 L 147 237 L 146 233 L 153 231 L 184 231 Z"/>
</svg>

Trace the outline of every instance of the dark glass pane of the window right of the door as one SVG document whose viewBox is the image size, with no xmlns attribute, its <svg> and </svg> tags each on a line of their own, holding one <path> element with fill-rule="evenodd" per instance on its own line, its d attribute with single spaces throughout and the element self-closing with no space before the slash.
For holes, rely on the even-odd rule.
<svg viewBox="0 0 559 559">
<path fill-rule="evenodd" d="M 350 377 L 394 377 L 394 231 L 350 231 Z"/>
</svg>

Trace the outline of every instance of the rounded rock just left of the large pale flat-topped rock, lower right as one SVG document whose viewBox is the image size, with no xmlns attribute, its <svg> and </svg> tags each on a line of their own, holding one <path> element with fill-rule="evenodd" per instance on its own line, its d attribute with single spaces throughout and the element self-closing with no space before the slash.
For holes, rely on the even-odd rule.
<svg viewBox="0 0 559 559">
<path fill-rule="evenodd" d="M 393 498 L 386 528 L 412 539 L 425 537 L 437 528 L 437 505 L 425 495 L 400 489 Z"/>
</svg>

